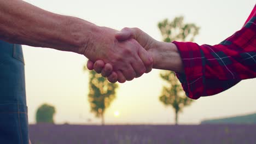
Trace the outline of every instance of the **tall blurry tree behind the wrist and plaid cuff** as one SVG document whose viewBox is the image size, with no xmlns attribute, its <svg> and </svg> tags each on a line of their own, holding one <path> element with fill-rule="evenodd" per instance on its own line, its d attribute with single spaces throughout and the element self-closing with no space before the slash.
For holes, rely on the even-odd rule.
<svg viewBox="0 0 256 144">
<path fill-rule="evenodd" d="M 158 23 L 163 40 L 170 43 L 173 40 L 193 41 L 199 33 L 199 27 L 194 23 L 184 23 L 183 16 L 175 17 L 173 21 L 165 19 Z M 168 83 L 164 86 L 160 101 L 166 106 L 172 106 L 175 112 L 175 124 L 178 124 L 178 114 L 183 107 L 190 105 L 193 101 L 185 96 L 181 83 L 173 71 L 163 70 L 160 77 Z"/>
</svg>

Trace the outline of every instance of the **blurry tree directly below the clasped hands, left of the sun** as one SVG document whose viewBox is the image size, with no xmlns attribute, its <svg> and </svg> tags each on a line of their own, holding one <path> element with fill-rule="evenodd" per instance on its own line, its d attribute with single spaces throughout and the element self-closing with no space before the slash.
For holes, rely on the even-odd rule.
<svg viewBox="0 0 256 144">
<path fill-rule="evenodd" d="M 86 66 L 84 67 L 86 70 Z M 94 70 L 89 71 L 89 94 L 88 100 L 91 106 L 91 112 L 96 117 L 101 118 L 101 124 L 104 125 L 104 113 L 107 107 L 115 99 L 115 90 L 118 88 L 117 83 L 110 83 L 101 74 Z"/>
</svg>

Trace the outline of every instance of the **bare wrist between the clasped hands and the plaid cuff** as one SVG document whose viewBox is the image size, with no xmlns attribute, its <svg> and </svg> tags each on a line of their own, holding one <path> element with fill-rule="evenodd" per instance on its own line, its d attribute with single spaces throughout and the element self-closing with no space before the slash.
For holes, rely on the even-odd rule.
<svg viewBox="0 0 256 144">
<path fill-rule="evenodd" d="M 150 49 L 149 52 L 154 59 L 154 69 L 165 69 L 183 73 L 182 59 L 175 44 L 158 41 L 154 49 Z"/>
</svg>

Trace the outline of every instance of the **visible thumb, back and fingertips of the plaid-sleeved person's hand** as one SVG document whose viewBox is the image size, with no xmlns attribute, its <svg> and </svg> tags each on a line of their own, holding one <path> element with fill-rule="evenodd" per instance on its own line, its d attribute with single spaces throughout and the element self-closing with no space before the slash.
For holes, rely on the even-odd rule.
<svg viewBox="0 0 256 144">
<path fill-rule="evenodd" d="M 149 52 L 151 57 L 154 56 L 153 48 L 156 47 L 158 42 L 138 28 L 124 28 L 115 34 L 115 38 L 119 41 L 129 41 L 131 39 L 135 39 L 142 47 L 144 47 L 145 50 Z M 95 63 L 89 60 L 87 67 L 90 70 L 94 69 L 97 71 L 97 73 L 101 73 L 104 77 L 108 77 L 108 81 L 110 82 L 118 81 L 123 83 L 127 80 L 122 71 L 115 71 L 112 67 L 112 64 L 104 61 L 103 59 L 97 60 Z M 149 73 L 150 71 L 151 69 L 148 69 L 146 73 Z M 137 75 L 136 77 L 139 76 L 141 75 Z"/>
</svg>

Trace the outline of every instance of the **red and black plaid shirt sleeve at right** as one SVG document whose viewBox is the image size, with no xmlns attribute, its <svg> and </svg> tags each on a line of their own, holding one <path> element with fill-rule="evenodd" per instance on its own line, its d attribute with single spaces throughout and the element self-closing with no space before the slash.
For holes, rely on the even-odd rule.
<svg viewBox="0 0 256 144">
<path fill-rule="evenodd" d="M 256 7 L 245 25 L 218 45 L 173 41 L 185 73 L 177 73 L 191 99 L 214 95 L 256 77 Z"/>
</svg>

